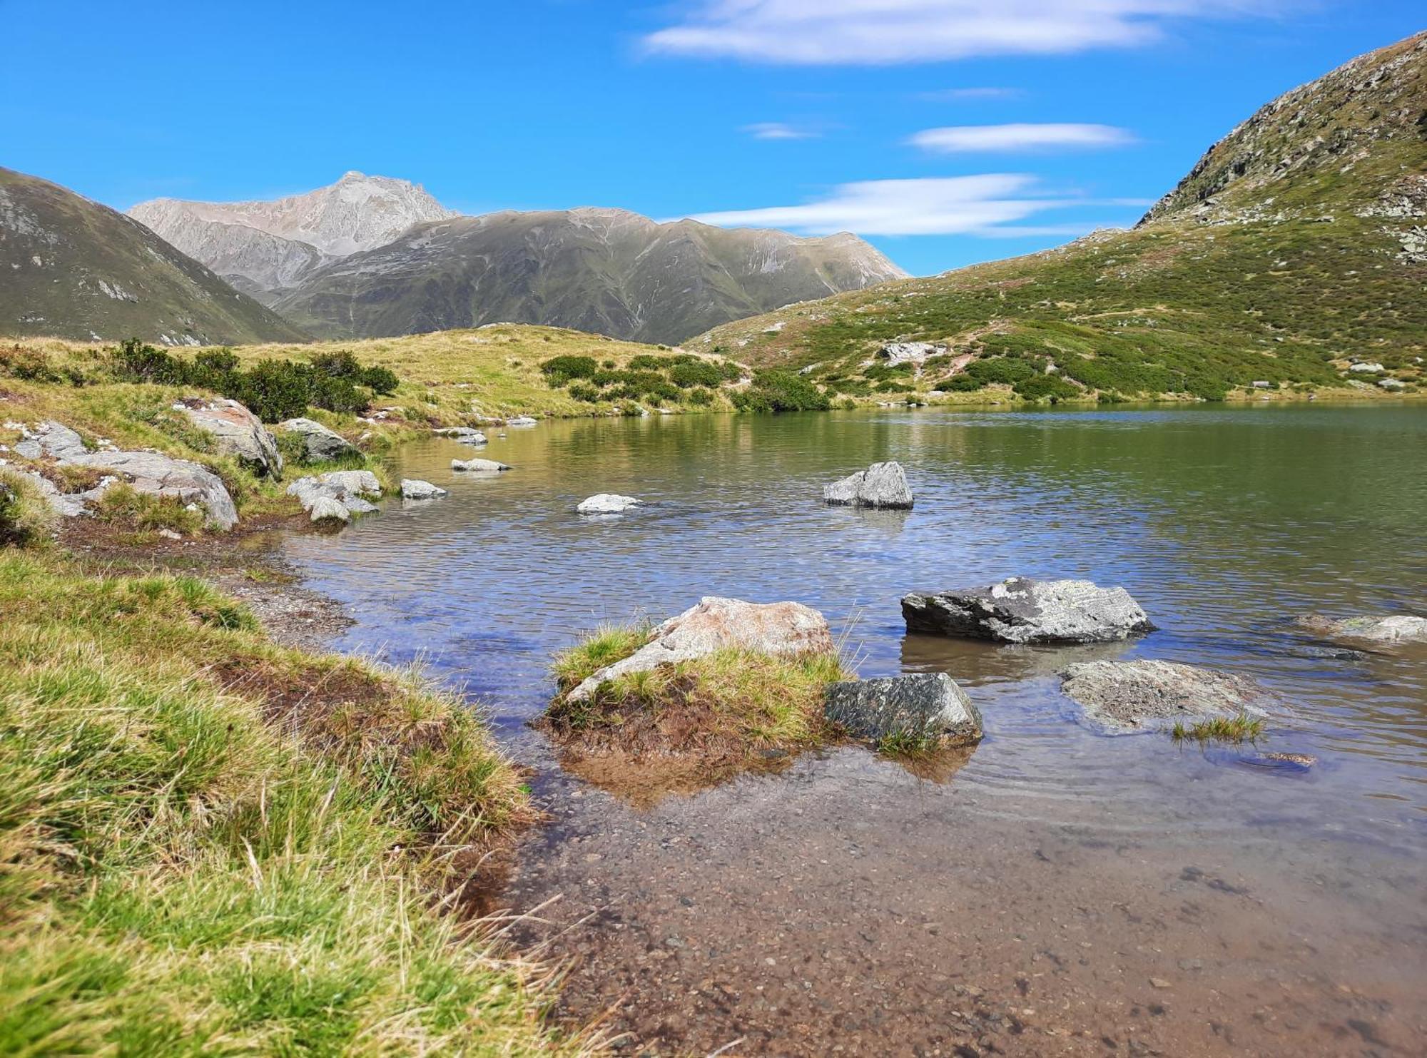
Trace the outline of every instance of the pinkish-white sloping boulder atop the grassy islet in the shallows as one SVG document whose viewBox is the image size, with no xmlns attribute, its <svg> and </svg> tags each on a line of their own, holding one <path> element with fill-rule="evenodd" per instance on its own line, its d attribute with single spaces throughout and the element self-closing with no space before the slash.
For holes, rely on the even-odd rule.
<svg viewBox="0 0 1427 1058">
<path fill-rule="evenodd" d="M 606 664 L 565 697 L 579 702 L 616 676 L 691 662 L 731 646 L 765 654 L 823 654 L 833 649 L 828 619 L 809 606 L 705 596 L 698 606 L 656 627 L 629 657 Z"/>
</svg>

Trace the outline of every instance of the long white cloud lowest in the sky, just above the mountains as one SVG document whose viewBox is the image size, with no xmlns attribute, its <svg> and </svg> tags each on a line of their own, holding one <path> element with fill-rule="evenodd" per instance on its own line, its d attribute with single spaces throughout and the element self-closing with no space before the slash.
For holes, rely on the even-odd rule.
<svg viewBox="0 0 1427 1058">
<path fill-rule="evenodd" d="M 725 210 L 692 220 L 725 227 L 786 228 L 809 235 L 996 235 L 999 228 L 1045 210 L 1085 200 L 1036 192 L 1036 178 L 1015 173 L 839 184 L 802 205 Z M 1082 231 L 1086 228 L 1082 228 Z"/>
</svg>

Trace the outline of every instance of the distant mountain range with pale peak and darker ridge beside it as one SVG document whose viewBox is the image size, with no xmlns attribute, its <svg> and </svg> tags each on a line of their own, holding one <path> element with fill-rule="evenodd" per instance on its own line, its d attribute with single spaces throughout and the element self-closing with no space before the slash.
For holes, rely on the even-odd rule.
<svg viewBox="0 0 1427 1058">
<path fill-rule="evenodd" d="M 361 173 L 273 202 L 158 198 L 130 215 L 323 338 L 509 321 L 679 342 L 905 275 L 855 235 L 658 224 L 624 210 L 459 217 L 421 187 Z"/>
</svg>

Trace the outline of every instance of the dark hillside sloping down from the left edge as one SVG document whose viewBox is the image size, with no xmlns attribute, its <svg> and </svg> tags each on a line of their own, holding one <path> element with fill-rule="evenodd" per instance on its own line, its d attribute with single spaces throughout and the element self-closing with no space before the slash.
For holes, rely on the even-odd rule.
<svg viewBox="0 0 1427 1058">
<path fill-rule="evenodd" d="M 0 168 L 0 334 L 173 345 L 303 332 L 138 221 Z"/>
</svg>

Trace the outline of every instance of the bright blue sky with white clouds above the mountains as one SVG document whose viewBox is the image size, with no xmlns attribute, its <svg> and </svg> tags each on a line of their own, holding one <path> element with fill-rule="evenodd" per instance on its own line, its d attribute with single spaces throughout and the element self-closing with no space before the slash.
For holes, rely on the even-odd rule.
<svg viewBox="0 0 1427 1058">
<path fill-rule="evenodd" d="M 0 165 L 117 208 L 347 170 L 467 212 L 849 228 L 925 274 L 1132 224 L 1420 0 L 0 0 Z"/>
</svg>

